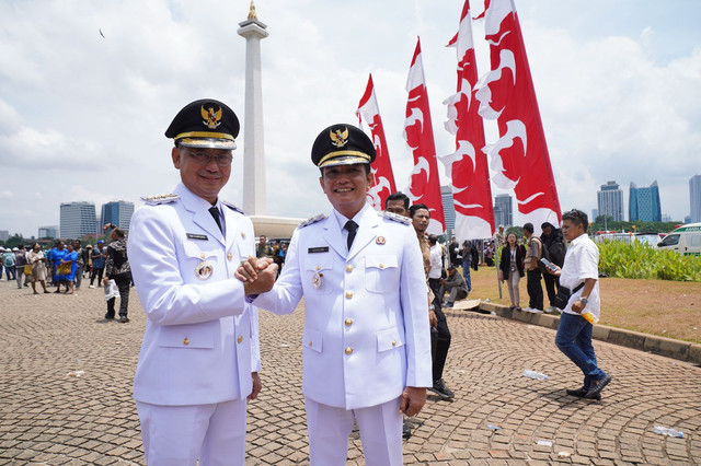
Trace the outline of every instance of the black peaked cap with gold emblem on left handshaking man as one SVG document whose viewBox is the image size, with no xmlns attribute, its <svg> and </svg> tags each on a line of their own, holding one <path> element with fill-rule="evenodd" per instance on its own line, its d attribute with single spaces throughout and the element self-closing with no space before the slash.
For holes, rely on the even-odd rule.
<svg viewBox="0 0 701 466">
<path fill-rule="evenodd" d="M 186 148 L 235 149 L 239 118 L 226 104 L 214 98 L 189 103 L 181 109 L 165 137 Z"/>
</svg>

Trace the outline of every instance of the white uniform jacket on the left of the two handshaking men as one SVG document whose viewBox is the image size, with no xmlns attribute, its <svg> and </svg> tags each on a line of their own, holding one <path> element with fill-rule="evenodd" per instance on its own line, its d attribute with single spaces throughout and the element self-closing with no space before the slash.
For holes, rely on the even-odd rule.
<svg viewBox="0 0 701 466">
<path fill-rule="evenodd" d="M 148 317 L 134 397 L 154 405 L 242 399 L 261 356 L 257 308 L 233 273 L 255 256 L 253 225 L 221 206 L 225 238 L 209 202 L 182 184 L 175 194 L 131 218 L 129 264 Z"/>
</svg>

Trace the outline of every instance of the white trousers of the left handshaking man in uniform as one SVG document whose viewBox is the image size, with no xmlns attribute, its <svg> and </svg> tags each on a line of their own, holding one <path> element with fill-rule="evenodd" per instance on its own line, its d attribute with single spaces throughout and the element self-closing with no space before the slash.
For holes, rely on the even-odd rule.
<svg viewBox="0 0 701 466">
<path fill-rule="evenodd" d="M 245 399 L 214 405 L 136 403 L 149 466 L 243 465 Z"/>
</svg>

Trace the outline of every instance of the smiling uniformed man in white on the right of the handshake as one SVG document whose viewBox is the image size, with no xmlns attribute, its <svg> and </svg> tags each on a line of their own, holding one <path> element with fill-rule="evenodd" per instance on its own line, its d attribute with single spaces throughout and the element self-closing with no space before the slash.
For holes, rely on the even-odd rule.
<svg viewBox="0 0 701 466">
<path fill-rule="evenodd" d="M 365 464 L 402 464 L 402 415 L 432 386 L 423 258 L 410 220 L 366 203 L 375 147 L 350 125 L 314 141 L 312 162 L 333 211 L 302 223 L 272 291 L 251 296 L 275 314 L 304 298 L 303 382 L 312 466 L 345 465 L 354 420 Z M 261 259 L 239 268 L 254 280 Z M 275 266 L 269 266 L 275 267 Z"/>
</svg>

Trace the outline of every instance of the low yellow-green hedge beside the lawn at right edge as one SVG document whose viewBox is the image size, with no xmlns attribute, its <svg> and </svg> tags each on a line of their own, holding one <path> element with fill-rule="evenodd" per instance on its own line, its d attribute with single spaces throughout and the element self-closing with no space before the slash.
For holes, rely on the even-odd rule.
<svg viewBox="0 0 701 466">
<path fill-rule="evenodd" d="M 701 281 L 701 259 L 642 243 L 605 241 L 599 244 L 599 271 L 618 278 Z"/>
</svg>

